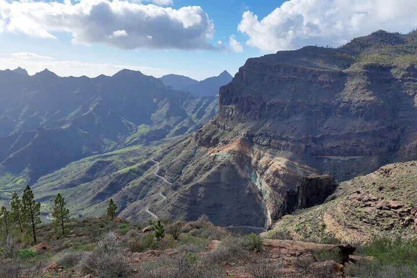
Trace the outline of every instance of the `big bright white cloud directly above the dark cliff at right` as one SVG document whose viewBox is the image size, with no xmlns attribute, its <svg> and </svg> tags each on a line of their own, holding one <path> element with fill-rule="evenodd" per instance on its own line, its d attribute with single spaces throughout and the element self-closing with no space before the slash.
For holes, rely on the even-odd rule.
<svg viewBox="0 0 417 278">
<path fill-rule="evenodd" d="M 266 52 L 339 46 L 380 29 L 411 31 L 416 11 L 416 0 L 288 0 L 261 20 L 244 12 L 238 30 L 249 36 L 248 45 Z"/>
</svg>

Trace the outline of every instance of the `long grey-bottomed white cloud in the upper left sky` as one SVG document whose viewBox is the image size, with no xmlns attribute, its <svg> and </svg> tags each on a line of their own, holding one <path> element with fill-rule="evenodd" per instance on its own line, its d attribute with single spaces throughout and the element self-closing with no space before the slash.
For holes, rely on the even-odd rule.
<svg viewBox="0 0 417 278">
<path fill-rule="evenodd" d="M 143 2 L 143 1 L 141 1 Z M 152 0 L 171 4 L 171 0 Z M 103 43 L 121 49 L 211 49 L 214 25 L 199 6 L 179 9 L 126 0 L 0 0 L 0 32 L 55 38 L 68 32 L 72 42 Z"/>
</svg>

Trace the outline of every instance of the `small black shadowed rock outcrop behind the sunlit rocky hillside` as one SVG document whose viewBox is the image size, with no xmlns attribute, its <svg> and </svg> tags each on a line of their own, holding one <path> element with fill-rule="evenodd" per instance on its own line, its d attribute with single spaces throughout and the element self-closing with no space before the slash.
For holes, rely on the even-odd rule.
<svg viewBox="0 0 417 278">
<path fill-rule="evenodd" d="M 322 204 L 336 190 L 336 182 L 329 175 L 310 175 L 301 178 L 297 185 L 298 209 Z"/>
</svg>

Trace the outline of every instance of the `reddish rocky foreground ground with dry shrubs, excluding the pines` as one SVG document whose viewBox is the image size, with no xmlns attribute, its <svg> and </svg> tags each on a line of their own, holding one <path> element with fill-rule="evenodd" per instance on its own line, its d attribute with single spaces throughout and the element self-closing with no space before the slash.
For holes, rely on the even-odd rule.
<svg viewBox="0 0 417 278">
<path fill-rule="evenodd" d="M 354 255 L 356 247 L 351 245 L 233 234 L 204 217 L 164 224 L 167 232 L 161 242 L 155 240 L 152 226 L 131 225 L 120 218 L 73 221 L 66 224 L 69 235 L 58 238 L 54 227 L 45 225 L 40 244 L 21 242 L 11 259 L 1 259 L 0 276 L 336 278 L 346 277 L 346 267 L 369 259 Z M 177 224 L 178 234 L 172 228 Z"/>
</svg>

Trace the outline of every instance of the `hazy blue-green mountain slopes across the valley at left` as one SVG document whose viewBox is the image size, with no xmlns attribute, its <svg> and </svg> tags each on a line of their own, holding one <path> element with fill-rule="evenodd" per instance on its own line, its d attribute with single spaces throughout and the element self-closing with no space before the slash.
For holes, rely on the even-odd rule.
<svg viewBox="0 0 417 278">
<path fill-rule="evenodd" d="M 173 91 L 151 76 L 59 77 L 0 71 L 0 172 L 32 182 L 71 161 L 195 131 L 217 97 Z"/>
</svg>

